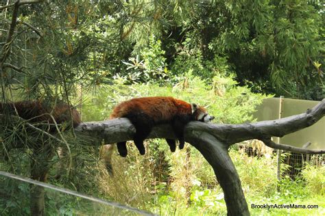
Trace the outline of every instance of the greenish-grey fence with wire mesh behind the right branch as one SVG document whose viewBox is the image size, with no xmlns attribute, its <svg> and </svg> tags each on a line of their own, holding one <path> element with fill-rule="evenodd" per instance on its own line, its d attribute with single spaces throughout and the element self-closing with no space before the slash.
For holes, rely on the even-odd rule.
<svg viewBox="0 0 325 216">
<path fill-rule="evenodd" d="M 263 101 L 259 107 L 257 107 L 254 117 L 258 121 L 263 120 L 276 120 L 279 118 L 285 118 L 288 116 L 297 115 L 304 113 L 307 109 L 313 108 L 317 105 L 319 101 L 312 100 L 296 100 L 290 98 L 267 98 Z M 309 149 L 320 150 L 325 149 L 325 119 L 321 119 L 319 122 L 310 126 L 309 128 L 302 129 L 295 133 L 285 135 L 284 137 L 273 137 L 273 140 L 279 144 L 287 144 L 296 147 L 302 147 L 307 142 L 311 142 Z M 265 148 L 259 141 L 248 141 L 242 148 L 244 151 L 253 157 L 261 157 L 264 154 L 270 154 L 265 151 Z M 278 154 L 280 163 L 278 165 L 278 179 L 282 176 L 289 176 L 291 179 L 295 180 L 301 174 L 302 169 L 306 163 L 315 166 L 322 166 L 325 163 L 325 154 L 300 154 L 295 152 L 283 152 L 282 150 L 274 151 L 275 154 Z M 284 163 L 287 166 L 285 172 L 280 172 L 281 163 Z"/>
</svg>

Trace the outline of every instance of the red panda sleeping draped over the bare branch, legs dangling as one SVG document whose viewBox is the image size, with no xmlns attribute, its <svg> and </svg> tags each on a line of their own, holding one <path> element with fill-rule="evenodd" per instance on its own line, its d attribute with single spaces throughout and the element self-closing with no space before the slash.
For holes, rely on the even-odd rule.
<svg viewBox="0 0 325 216">
<path fill-rule="evenodd" d="M 195 103 L 189 104 L 183 100 L 172 97 L 144 97 L 133 98 L 120 103 L 112 111 L 110 118 L 128 118 L 134 125 L 136 133 L 133 140 L 140 154 L 145 154 L 143 141 L 147 138 L 152 128 L 158 124 L 171 124 L 173 131 L 180 142 L 179 148 L 184 148 L 184 127 L 191 121 L 210 122 L 204 107 Z M 166 139 L 171 152 L 176 150 L 176 141 Z M 121 157 L 128 155 L 126 141 L 117 143 L 117 150 Z"/>
</svg>

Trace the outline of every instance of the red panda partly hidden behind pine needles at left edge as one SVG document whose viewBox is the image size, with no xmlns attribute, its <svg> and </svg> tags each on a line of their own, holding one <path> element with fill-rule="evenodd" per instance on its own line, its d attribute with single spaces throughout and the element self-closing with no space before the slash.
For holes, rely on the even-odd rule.
<svg viewBox="0 0 325 216">
<path fill-rule="evenodd" d="M 47 122 L 53 124 L 56 120 L 57 124 L 63 122 L 71 122 L 73 127 L 80 124 L 80 113 L 73 107 L 69 107 L 67 103 L 58 101 L 56 107 L 51 107 L 43 101 L 23 100 L 15 103 L 0 103 L 0 113 L 7 113 L 17 115 L 29 122 Z M 51 116 L 49 115 L 51 113 Z M 72 118 L 72 119 L 71 119 Z M 55 132 L 54 127 L 50 127 L 51 132 Z"/>
</svg>

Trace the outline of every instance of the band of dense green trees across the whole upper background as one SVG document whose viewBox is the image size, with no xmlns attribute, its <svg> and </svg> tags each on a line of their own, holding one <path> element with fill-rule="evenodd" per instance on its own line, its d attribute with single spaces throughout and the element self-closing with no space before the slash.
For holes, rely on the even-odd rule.
<svg viewBox="0 0 325 216">
<path fill-rule="evenodd" d="M 234 74 L 254 92 L 324 96 L 320 1 L 75 0 L 20 10 L 8 62 L 23 68 L 5 68 L 3 85 L 14 80 L 31 97 L 55 94 L 40 90 L 50 83 L 163 85 L 188 72 L 207 83 Z M 1 12 L 3 29 L 11 12 Z"/>
</svg>

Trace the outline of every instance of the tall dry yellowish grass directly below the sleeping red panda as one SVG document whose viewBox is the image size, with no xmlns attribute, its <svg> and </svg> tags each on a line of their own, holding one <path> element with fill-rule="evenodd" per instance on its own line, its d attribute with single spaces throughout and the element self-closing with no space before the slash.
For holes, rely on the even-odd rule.
<svg viewBox="0 0 325 216">
<path fill-rule="evenodd" d="M 114 177 L 110 177 L 104 164 L 99 165 L 101 175 L 99 187 L 105 198 L 134 206 L 148 209 L 152 200 L 152 163 L 149 154 L 141 156 L 134 144 L 128 145 L 128 157 L 119 157 L 118 153 L 112 158 Z"/>
</svg>

